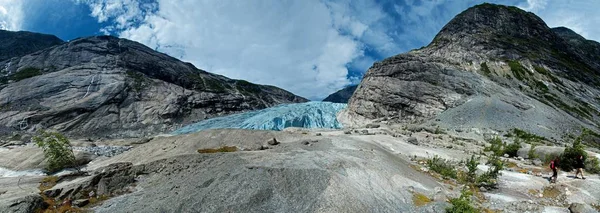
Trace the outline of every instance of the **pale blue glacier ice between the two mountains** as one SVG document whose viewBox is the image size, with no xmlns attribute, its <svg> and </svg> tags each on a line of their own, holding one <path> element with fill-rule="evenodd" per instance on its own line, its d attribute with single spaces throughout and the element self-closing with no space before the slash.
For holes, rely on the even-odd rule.
<svg viewBox="0 0 600 213">
<path fill-rule="evenodd" d="M 299 104 L 282 104 L 279 106 L 211 118 L 190 124 L 173 132 L 187 134 L 206 129 L 262 129 L 282 130 L 287 127 L 304 128 L 342 128 L 336 114 L 346 108 L 346 104 L 330 102 L 307 102 Z"/>
</svg>

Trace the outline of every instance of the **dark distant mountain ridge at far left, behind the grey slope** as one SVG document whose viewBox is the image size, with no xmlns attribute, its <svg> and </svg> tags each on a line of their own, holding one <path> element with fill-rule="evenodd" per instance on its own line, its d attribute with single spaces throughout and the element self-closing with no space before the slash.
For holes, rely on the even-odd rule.
<svg viewBox="0 0 600 213">
<path fill-rule="evenodd" d="M 24 56 L 62 43 L 63 41 L 54 35 L 0 30 L 0 61 Z"/>
</svg>

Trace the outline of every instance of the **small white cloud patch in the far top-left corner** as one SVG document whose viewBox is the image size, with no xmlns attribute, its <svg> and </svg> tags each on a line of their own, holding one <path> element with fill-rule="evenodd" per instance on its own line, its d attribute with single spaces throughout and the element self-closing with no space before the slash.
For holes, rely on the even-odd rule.
<svg viewBox="0 0 600 213">
<path fill-rule="evenodd" d="M 21 30 L 22 20 L 21 0 L 0 0 L 0 29 Z"/>
</svg>

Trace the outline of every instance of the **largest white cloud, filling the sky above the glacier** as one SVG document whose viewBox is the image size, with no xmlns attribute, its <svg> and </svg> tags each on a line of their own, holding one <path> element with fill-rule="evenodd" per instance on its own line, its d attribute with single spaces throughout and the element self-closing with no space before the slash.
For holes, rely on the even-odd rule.
<svg viewBox="0 0 600 213">
<path fill-rule="evenodd" d="M 116 20 L 120 37 L 209 72 L 311 99 L 350 83 L 346 65 L 363 54 L 355 38 L 367 28 L 357 20 L 332 17 L 317 0 L 159 0 L 153 12 L 132 0 L 87 3 L 100 22 Z M 129 24 L 138 19 L 137 26 Z M 349 34 L 340 32 L 342 26 Z"/>
</svg>

